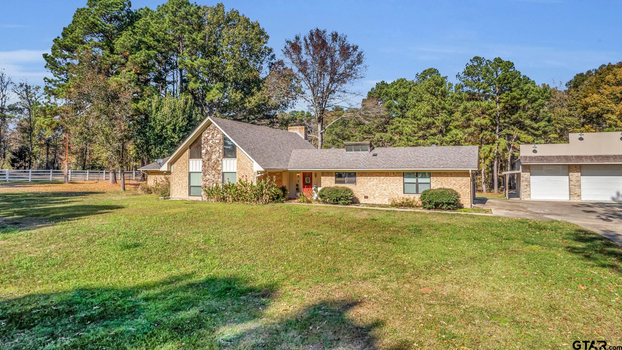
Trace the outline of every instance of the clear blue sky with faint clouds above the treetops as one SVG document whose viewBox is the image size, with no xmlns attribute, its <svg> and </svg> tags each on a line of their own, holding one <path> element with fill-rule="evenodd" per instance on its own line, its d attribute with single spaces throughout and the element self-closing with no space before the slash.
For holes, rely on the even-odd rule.
<svg viewBox="0 0 622 350">
<path fill-rule="evenodd" d="M 164 0 L 133 0 L 156 8 Z M 215 2 L 197 1 L 212 5 Z M 0 68 L 42 84 L 41 55 L 86 0 L 5 0 L 0 4 Z M 622 60 L 622 2 L 617 1 L 224 1 L 258 21 L 281 54 L 284 40 L 313 27 L 343 32 L 366 53 L 354 87 L 435 67 L 455 82 L 480 55 L 512 60 L 537 83 L 559 85 L 578 72 Z"/>
</svg>

